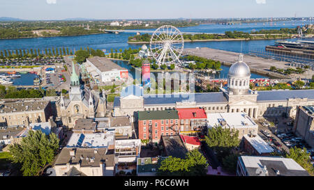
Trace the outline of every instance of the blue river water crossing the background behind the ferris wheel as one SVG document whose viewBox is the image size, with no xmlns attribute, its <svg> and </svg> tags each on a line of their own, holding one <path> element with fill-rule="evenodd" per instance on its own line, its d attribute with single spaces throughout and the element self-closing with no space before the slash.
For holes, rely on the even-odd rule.
<svg viewBox="0 0 314 190">
<path fill-rule="evenodd" d="M 297 26 L 304 26 L 309 22 L 257 22 L 250 24 L 234 24 L 234 25 L 222 25 L 222 24 L 202 24 L 199 26 L 190 26 L 179 28 L 184 32 L 200 32 L 200 33 L 225 33 L 225 31 L 260 31 L 262 29 L 281 29 L 281 28 L 295 28 Z M 143 29 L 141 29 L 143 30 Z M 154 31 L 155 29 L 147 29 Z M 63 37 L 51 37 L 51 38 L 24 38 L 24 39 L 10 39 L 0 40 L 0 50 L 3 49 L 41 49 L 51 47 L 68 47 L 69 49 L 80 49 L 81 47 L 91 47 L 93 49 L 105 49 L 110 52 L 110 49 L 128 49 L 139 48 L 141 45 L 129 45 L 127 43 L 128 37 L 135 35 L 134 32 L 126 33 L 105 33 L 94 35 L 77 35 L 77 36 L 63 36 Z M 297 38 L 287 40 L 299 40 Z M 306 40 L 314 40 L 314 38 L 306 38 Z M 266 45 L 274 45 L 276 40 L 246 40 L 246 41 L 212 41 L 212 42 L 185 42 L 185 48 L 195 47 L 209 47 L 213 49 L 221 49 L 230 52 L 241 52 L 247 54 L 250 51 L 258 51 L 264 49 Z M 242 46 L 242 48 L 241 48 Z M 126 63 L 121 63 L 121 66 L 128 68 L 130 73 L 133 73 L 133 68 Z M 228 67 L 222 65 L 223 70 L 220 72 L 220 76 L 216 74 L 212 77 L 224 78 L 227 76 L 229 70 Z M 252 74 L 252 78 L 263 77 L 260 74 Z M 21 81 L 22 82 L 22 81 Z"/>
</svg>

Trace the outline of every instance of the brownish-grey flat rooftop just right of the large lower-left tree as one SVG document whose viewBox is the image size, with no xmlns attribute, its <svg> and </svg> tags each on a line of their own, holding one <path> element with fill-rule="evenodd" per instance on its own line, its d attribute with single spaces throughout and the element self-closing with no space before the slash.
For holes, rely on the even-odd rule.
<svg viewBox="0 0 314 190">
<path fill-rule="evenodd" d="M 114 166 L 114 155 L 106 153 L 106 148 L 63 148 L 54 165 L 80 163 L 80 166 L 99 166 L 100 161 L 104 161 L 106 166 Z"/>
</svg>

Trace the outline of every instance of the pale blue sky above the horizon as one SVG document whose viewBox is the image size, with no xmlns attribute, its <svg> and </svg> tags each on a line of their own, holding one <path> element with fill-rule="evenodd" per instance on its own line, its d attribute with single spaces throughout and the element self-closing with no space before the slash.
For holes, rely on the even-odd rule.
<svg viewBox="0 0 314 190">
<path fill-rule="evenodd" d="M 0 17 L 177 19 L 314 17 L 313 0 L 0 0 Z"/>
</svg>

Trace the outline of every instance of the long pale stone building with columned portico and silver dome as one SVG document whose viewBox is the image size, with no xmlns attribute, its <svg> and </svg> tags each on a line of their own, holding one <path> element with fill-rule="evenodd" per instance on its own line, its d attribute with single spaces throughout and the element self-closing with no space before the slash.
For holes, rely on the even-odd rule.
<svg viewBox="0 0 314 190">
<path fill-rule="evenodd" d="M 207 113 L 247 113 L 250 118 L 292 116 L 297 106 L 314 104 L 314 90 L 250 89 L 251 70 L 239 55 L 230 67 L 227 88 L 218 93 L 180 93 L 167 95 L 129 95 L 137 97 L 137 106 L 128 97 L 114 98 L 114 116 L 133 116 L 136 111 L 160 111 L 202 107 Z"/>
</svg>

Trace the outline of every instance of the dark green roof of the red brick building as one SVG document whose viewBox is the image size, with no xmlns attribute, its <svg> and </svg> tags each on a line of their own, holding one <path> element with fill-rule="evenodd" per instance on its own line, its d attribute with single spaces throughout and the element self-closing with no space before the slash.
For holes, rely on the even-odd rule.
<svg viewBox="0 0 314 190">
<path fill-rule="evenodd" d="M 177 110 L 138 111 L 138 120 L 168 120 L 179 119 Z"/>
</svg>

